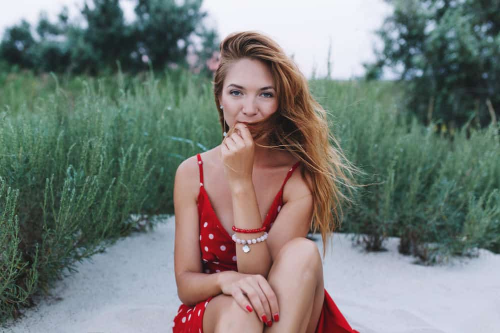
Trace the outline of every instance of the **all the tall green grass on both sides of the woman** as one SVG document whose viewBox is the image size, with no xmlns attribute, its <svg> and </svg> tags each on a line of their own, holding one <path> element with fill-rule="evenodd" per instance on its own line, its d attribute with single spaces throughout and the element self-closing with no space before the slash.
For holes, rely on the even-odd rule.
<svg viewBox="0 0 500 333">
<path fill-rule="evenodd" d="M 172 214 L 178 164 L 220 143 L 209 80 L 157 75 L 0 75 L 0 323 L 76 261 Z M 499 252 L 494 126 L 450 141 L 407 122 L 391 82 L 310 85 L 368 174 L 357 181 L 376 183 L 358 192 L 340 231 L 372 251 L 400 237 L 400 252 L 423 264 Z"/>
</svg>

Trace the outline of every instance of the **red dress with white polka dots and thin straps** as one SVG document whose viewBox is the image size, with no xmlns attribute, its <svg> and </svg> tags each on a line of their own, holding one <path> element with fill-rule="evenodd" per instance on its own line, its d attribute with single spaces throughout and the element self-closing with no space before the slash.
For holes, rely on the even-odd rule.
<svg viewBox="0 0 500 333">
<path fill-rule="evenodd" d="M 199 194 L 198 194 L 198 216 L 199 216 L 199 249 L 203 272 L 206 274 L 218 273 L 223 271 L 237 271 L 236 266 L 236 246 L 232 241 L 231 235 L 222 227 L 220 221 L 215 215 L 208 194 L 203 187 L 203 162 L 200 154 L 196 155 L 199 167 Z M 299 162 L 295 163 L 287 172 L 278 193 L 265 216 L 263 225 L 269 232 L 272 223 L 283 204 L 283 187 L 293 170 L 296 169 Z M 177 315 L 173 319 L 173 333 L 203 333 L 203 314 L 205 308 L 213 298 L 197 303 L 194 306 L 181 304 L 177 310 Z M 324 302 L 316 327 L 316 333 L 359 333 L 352 330 L 347 324 L 333 300 L 324 290 Z"/>
</svg>

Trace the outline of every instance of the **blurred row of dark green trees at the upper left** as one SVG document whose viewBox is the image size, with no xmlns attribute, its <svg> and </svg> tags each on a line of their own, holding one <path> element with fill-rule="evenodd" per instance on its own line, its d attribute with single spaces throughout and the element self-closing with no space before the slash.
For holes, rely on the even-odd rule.
<svg viewBox="0 0 500 333">
<path fill-rule="evenodd" d="M 161 69 L 186 65 L 188 48 L 195 53 L 216 49 L 216 32 L 202 24 L 201 0 L 136 0 L 135 19 L 127 22 L 119 0 L 85 1 L 80 22 L 70 22 L 64 7 L 55 22 L 41 13 L 35 27 L 23 20 L 8 27 L 0 43 L 0 60 L 35 71 L 97 74 Z M 207 38 L 205 40 L 205 38 Z M 196 38 L 204 47 L 199 50 Z M 205 58 L 200 57 L 200 61 Z"/>
</svg>

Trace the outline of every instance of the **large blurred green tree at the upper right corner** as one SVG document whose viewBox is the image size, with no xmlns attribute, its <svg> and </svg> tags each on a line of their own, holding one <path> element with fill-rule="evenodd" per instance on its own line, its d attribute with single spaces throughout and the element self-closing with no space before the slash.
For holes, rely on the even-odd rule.
<svg viewBox="0 0 500 333">
<path fill-rule="evenodd" d="M 422 122 L 485 126 L 500 110 L 500 0 L 385 0 L 382 50 L 366 78 L 398 70 L 406 108 Z M 496 112 L 496 115 L 495 113 Z"/>
</svg>

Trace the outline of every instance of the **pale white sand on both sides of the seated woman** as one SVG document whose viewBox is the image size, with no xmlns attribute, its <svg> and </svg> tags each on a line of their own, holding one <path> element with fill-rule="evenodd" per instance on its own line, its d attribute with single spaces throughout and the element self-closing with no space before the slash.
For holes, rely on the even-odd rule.
<svg viewBox="0 0 500 333">
<path fill-rule="evenodd" d="M 173 216 L 106 252 L 76 263 L 77 273 L 36 299 L 2 332 L 172 332 L 180 301 L 173 271 Z M 397 252 L 366 253 L 349 234 L 335 234 L 323 261 L 325 288 L 360 333 L 500 332 L 500 255 L 425 267 Z M 321 249 L 321 241 L 317 242 Z"/>
</svg>

